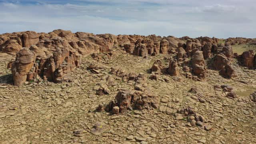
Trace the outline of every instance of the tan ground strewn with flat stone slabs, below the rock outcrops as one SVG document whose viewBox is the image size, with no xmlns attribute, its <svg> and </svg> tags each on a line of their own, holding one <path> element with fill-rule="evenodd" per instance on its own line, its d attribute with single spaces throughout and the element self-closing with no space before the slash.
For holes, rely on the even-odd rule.
<svg viewBox="0 0 256 144">
<path fill-rule="evenodd" d="M 11 84 L 10 69 L 6 69 L 14 57 L 1 53 L 0 143 L 256 143 L 256 103 L 250 98 L 256 90 L 255 70 L 237 66 L 238 77 L 226 79 L 208 69 L 206 80 L 200 82 L 186 78 L 180 68 L 178 77 L 161 74 L 158 80 L 152 80 L 150 68 L 154 61 L 160 59 L 168 68 L 166 58 L 170 56 L 143 58 L 121 52 L 110 61 L 82 58 L 68 82 L 26 82 L 20 87 Z M 88 70 L 90 64 L 97 65 L 98 70 Z M 145 75 L 145 84 L 156 95 L 158 109 L 117 115 L 96 111 L 99 104 L 114 100 L 120 89 L 134 89 L 133 80 L 111 73 L 111 68 L 118 67 Z M 108 94 L 97 95 L 103 84 Z M 224 84 L 236 96 L 220 87 Z M 184 108 L 192 108 L 194 115 L 182 115 Z"/>
</svg>

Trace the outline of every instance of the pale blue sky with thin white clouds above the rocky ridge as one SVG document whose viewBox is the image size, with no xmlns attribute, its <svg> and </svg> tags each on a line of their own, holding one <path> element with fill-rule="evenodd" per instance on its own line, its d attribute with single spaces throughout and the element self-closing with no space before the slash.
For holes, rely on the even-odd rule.
<svg viewBox="0 0 256 144">
<path fill-rule="evenodd" d="M 256 38 L 255 14 L 256 0 L 0 0 L 0 34 L 63 29 Z"/>
</svg>

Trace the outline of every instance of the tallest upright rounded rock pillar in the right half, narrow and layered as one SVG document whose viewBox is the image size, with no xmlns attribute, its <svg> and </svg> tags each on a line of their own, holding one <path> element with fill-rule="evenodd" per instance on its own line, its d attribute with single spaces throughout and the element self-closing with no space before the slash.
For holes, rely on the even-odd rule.
<svg viewBox="0 0 256 144">
<path fill-rule="evenodd" d="M 200 78 L 205 77 L 206 68 L 204 67 L 204 56 L 202 51 L 196 51 L 195 54 L 192 56 L 192 68 L 193 73 Z"/>
</svg>

